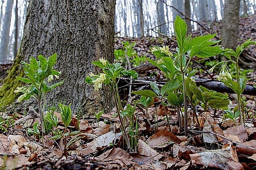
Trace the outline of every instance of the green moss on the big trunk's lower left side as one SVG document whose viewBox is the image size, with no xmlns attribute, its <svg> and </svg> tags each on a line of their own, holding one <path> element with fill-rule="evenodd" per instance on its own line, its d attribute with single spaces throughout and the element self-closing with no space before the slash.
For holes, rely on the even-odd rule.
<svg viewBox="0 0 256 170">
<path fill-rule="evenodd" d="M 24 70 L 21 67 L 23 56 L 18 55 L 11 66 L 8 76 L 4 79 L 4 84 L 0 88 L 0 106 L 12 104 L 17 99 L 18 94 L 14 90 L 19 87 L 22 82 L 16 79 L 16 76 L 23 76 Z"/>
</svg>

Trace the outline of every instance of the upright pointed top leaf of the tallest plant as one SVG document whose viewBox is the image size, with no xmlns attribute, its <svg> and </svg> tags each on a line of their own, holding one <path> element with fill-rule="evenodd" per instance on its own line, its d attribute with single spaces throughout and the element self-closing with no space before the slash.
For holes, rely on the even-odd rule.
<svg viewBox="0 0 256 170">
<path fill-rule="evenodd" d="M 187 36 L 187 24 L 178 15 L 174 21 L 174 30 L 180 52 L 182 52 Z"/>
</svg>

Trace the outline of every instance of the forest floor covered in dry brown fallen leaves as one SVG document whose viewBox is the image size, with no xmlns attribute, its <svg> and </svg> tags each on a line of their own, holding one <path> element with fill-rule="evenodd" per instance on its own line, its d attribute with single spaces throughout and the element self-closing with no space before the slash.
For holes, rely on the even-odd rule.
<svg viewBox="0 0 256 170">
<path fill-rule="evenodd" d="M 256 40 L 256 15 L 242 18 L 239 24 L 239 43 L 252 37 Z M 209 32 L 193 32 L 193 36 L 216 33 L 221 30 L 221 23 L 208 26 Z M 218 35 L 221 32 L 217 32 Z M 219 38 L 219 36 L 216 38 Z M 143 38 L 115 38 L 115 49 L 123 49 L 122 42 L 135 42 L 135 52 L 139 56 L 154 58 L 150 47 L 169 45 L 171 50 L 176 47 L 174 37 L 143 37 Z M 244 53 L 247 68 L 243 74 L 247 77 L 247 84 L 255 84 L 256 48 L 251 46 Z M 200 60 L 198 58 L 191 65 L 197 69 L 195 79 L 216 79 L 217 73 L 207 70 L 213 66 L 216 57 Z M 139 72 L 139 80 L 165 81 L 163 74 L 149 64 L 133 66 Z M 7 76 L 6 70 L 10 64 L 0 65 L 0 79 Z M 231 68 L 232 69 L 232 68 Z M 127 83 L 129 79 L 119 82 L 121 100 L 126 104 L 128 97 Z M 132 90 L 141 86 L 148 88 L 147 83 L 135 82 Z M 1 82 L 0 82 L 1 83 Z M 0 84 L 1 85 L 1 84 Z M 236 95 L 228 94 L 229 108 L 236 106 Z M 137 99 L 137 98 L 136 98 Z M 135 100 L 135 99 L 134 99 Z M 69 132 L 80 130 L 80 140 L 71 144 L 67 156 L 63 155 L 65 139 L 50 139 L 53 134 L 41 137 L 36 133 L 33 125 L 39 122 L 36 111 L 28 107 L 26 113 L 1 113 L 0 121 L 0 166 L 6 169 L 255 169 L 256 168 L 256 95 L 243 95 L 246 125 L 239 125 L 223 117 L 223 110 L 209 108 L 208 112 L 198 105 L 197 114 L 199 123 L 189 119 L 189 135 L 178 127 L 176 109 L 159 104 L 155 99 L 149 108 L 149 119 L 145 119 L 145 109 L 138 107 L 135 111 L 138 121 L 139 136 L 137 149 L 126 151 L 127 147 L 121 136 L 119 119 L 113 117 L 114 112 L 103 114 L 97 122 L 95 117 L 83 115 L 72 116 Z M 167 110 L 171 131 L 167 126 L 164 110 Z M 54 112 L 58 118 L 58 129 L 63 130 L 61 115 Z M 157 120 L 156 120 L 157 119 Z M 34 135 L 28 133 L 30 128 Z M 54 128 L 56 130 L 56 128 Z M 75 137 L 78 137 L 75 136 Z M 42 140 L 43 139 L 43 140 Z M 67 138 L 72 140 L 74 137 Z"/>
</svg>

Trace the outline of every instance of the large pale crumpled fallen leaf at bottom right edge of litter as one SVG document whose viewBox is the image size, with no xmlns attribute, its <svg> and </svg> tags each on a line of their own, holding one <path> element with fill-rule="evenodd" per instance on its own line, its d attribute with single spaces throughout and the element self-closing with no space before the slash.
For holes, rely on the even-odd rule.
<svg viewBox="0 0 256 170">
<path fill-rule="evenodd" d="M 202 151 L 190 155 L 193 164 L 203 165 L 206 168 L 223 170 L 244 170 L 238 162 L 238 157 L 232 144 L 225 144 L 223 149 Z"/>
</svg>

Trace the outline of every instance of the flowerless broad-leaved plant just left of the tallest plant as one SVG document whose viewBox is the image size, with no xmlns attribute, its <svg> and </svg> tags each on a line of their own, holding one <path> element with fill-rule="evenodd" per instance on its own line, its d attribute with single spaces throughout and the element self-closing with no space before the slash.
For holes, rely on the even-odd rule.
<svg viewBox="0 0 256 170">
<path fill-rule="evenodd" d="M 150 86 L 153 89 L 153 91 L 151 91 L 151 90 L 139 90 L 139 91 L 133 91 L 132 94 L 137 94 L 137 95 L 140 95 L 140 96 L 151 97 L 151 98 L 156 98 L 156 97 L 159 98 L 161 100 L 161 104 L 163 105 L 163 108 L 164 108 L 165 117 L 166 117 L 166 120 L 167 120 L 169 130 L 171 131 L 171 126 L 170 126 L 170 123 L 169 123 L 167 110 L 165 108 L 164 98 L 166 97 L 166 95 L 169 92 L 172 92 L 172 91 L 176 90 L 179 87 L 179 82 L 177 81 L 177 79 L 172 79 L 172 80 L 168 81 L 167 83 L 165 83 L 165 85 L 163 85 L 161 90 L 158 88 L 157 84 L 154 83 L 154 82 L 150 83 Z"/>
</svg>

